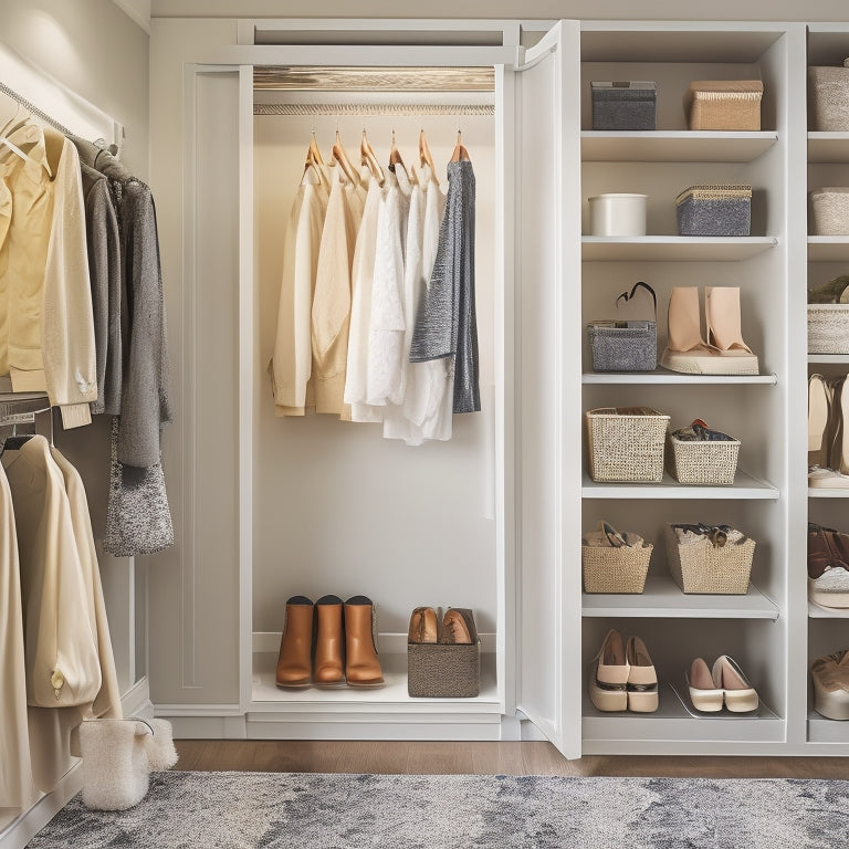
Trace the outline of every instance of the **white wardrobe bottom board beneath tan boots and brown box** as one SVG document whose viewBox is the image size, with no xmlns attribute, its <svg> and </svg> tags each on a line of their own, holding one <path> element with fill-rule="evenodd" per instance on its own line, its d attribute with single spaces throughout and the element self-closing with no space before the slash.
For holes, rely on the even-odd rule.
<svg viewBox="0 0 849 849">
<path fill-rule="evenodd" d="M 276 652 L 253 653 L 253 686 L 249 711 L 279 714 L 382 713 L 394 716 L 416 714 L 464 714 L 499 717 L 495 654 L 481 653 L 481 692 L 473 699 L 413 699 L 407 694 L 407 654 L 380 652 L 386 686 L 375 689 L 343 686 L 324 690 L 307 686 L 283 690 L 274 681 Z M 471 721 L 471 719 L 470 719 Z M 485 720 L 490 721 L 490 720 Z"/>
</svg>

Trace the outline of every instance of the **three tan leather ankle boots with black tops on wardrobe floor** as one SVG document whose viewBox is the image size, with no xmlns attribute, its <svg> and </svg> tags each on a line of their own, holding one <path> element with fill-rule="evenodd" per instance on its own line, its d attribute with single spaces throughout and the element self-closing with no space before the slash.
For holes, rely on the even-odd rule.
<svg viewBox="0 0 849 849">
<path fill-rule="evenodd" d="M 277 658 L 277 686 L 382 686 L 374 632 L 375 606 L 366 596 L 343 604 L 322 596 L 286 601 L 286 621 Z"/>
</svg>

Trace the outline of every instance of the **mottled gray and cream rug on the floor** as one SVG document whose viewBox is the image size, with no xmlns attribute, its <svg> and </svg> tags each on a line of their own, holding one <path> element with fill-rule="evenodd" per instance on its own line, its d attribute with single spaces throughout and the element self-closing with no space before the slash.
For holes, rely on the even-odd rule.
<svg viewBox="0 0 849 849">
<path fill-rule="evenodd" d="M 80 797 L 31 849 L 797 849 L 849 842 L 849 782 L 156 773 L 114 814 Z"/>
</svg>

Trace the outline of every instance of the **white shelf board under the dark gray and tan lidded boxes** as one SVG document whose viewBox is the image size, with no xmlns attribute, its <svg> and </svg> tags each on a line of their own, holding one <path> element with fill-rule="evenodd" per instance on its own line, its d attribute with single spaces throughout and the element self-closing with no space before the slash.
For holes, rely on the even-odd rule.
<svg viewBox="0 0 849 849">
<path fill-rule="evenodd" d="M 585 129 L 580 134 L 580 155 L 587 163 L 751 163 L 777 139 L 777 133 L 769 130 Z"/>
</svg>

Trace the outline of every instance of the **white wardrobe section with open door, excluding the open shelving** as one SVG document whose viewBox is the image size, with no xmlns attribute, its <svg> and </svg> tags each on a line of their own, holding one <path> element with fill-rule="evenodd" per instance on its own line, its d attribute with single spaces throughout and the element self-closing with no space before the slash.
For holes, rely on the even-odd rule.
<svg viewBox="0 0 849 849">
<path fill-rule="evenodd" d="M 154 182 L 180 339 L 167 461 L 182 470 L 181 542 L 151 574 L 157 709 L 187 735 L 436 740 L 517 737 L 518 709 L 577 756 L 565 682 L 578 656 L 564 623 L 575 630 L 578 584 L 563 568 L 564 474 L 552 462 L 567 460 L 564 433 L 579 434 L 578 395 L 558 386 L 578 352 L 559 332 L 576 292 L 565 269 L 579 258 L 567 200 L 578 139 L 563 132 L 577 122 L 565 87 L 577 23 L 556 24 L 527 55 L 515 23 L 251 21 L 235 32 L 240 45 L 222 22 L 155 21 L 151 40 Z M 344 91 L 345 69 L 378 65 L 387 80 L 416 71 L 424 91 Z M 255 69 L 268 80 L 303 66 L 342 71 L 337 90 L 254 92 Z M 489 74 L 491 91 L 451 91 L 441 81 L 458 69 Z M 375 426 L 274 417 L 266 365 L 305 150 L 315 132 L 327 156 L 338 129 L 358 160 L 364 128 L 384 167 L 392 132 L 418 165 L 424 128 L 443 188 L 458 128 L 472 157 L 483 409 L 455 416 L 447 443 L 407 448 Z M 328 593 L 377 602 L 386 688 L 275 686 L 285 600 Z M 478 698 L 408 696 L 407 625 L 421 604 L 474 608 Z"/>
</svg>

